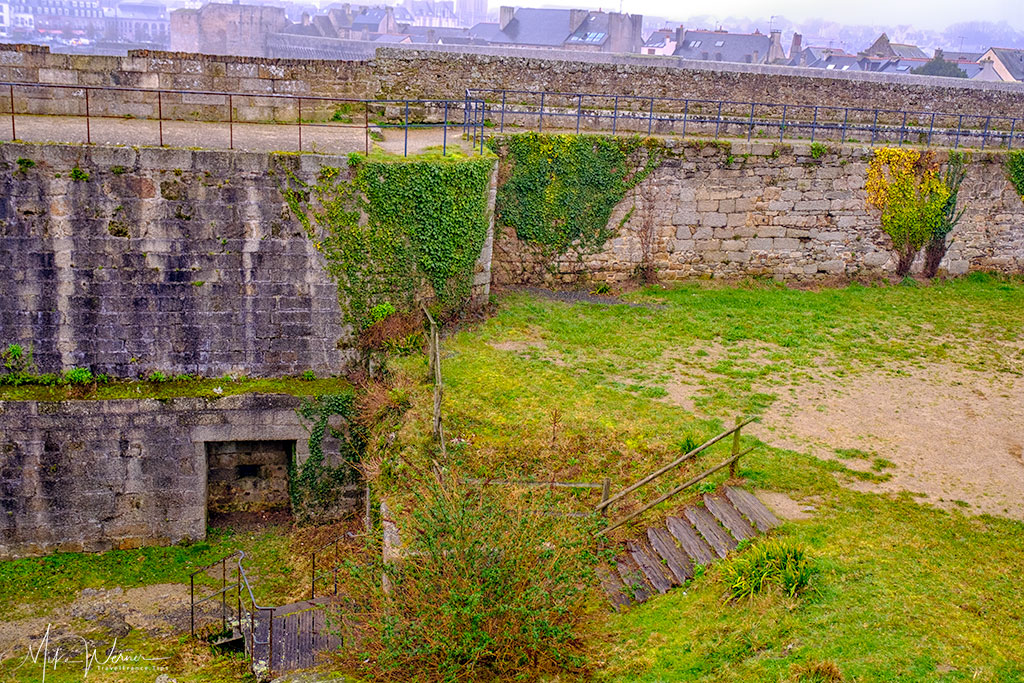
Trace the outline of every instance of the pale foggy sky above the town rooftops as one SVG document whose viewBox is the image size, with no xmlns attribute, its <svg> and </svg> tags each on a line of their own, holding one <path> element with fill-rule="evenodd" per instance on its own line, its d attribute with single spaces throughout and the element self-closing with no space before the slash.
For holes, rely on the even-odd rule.
<svg viewBox="0 0 1024 683">
<path fill-rule="evenodd" d="M 599 0 L 600 2 L 600 0 Z M 620 0 L 605 0 L 604 9 L 617 10 Z M 856 0 L 809 2 L 808 0 L 718 0 L 678 2 L 673 0 L 622 0 L 623 11 L 683 18 L 697 14 L 717 17 L 769 17 L 774 14 L 794 22 L 819 17 L 847 25 L 911 25 L 919 29 L 944 29 L 958 22 L 1002 22 L 1024 29 L 1024 0 Z"/>
</svg>

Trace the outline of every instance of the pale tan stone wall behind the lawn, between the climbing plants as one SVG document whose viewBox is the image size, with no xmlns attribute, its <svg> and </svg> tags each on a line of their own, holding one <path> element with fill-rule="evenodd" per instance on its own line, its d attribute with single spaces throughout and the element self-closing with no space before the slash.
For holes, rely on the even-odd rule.
<svg viewBox="0 0 1024 683">
<path fill-rule="evenodd" d="M 600 253 L 550 263 L 514 230 L 496 227 L 495 284 L 624 282 L 644 262 L 663 280 L 878 276 L 895 268 L 878 214 L 865 206 L 870 150 L 815 159 L 808 144 L 678 143 L 673 153 L 612 212 L 617 233 Z M 959 201 L 967 212 L 942 269 L 1024 272 L 1024 201 L 1002 155 L 972 156 Z"/>
</svg>

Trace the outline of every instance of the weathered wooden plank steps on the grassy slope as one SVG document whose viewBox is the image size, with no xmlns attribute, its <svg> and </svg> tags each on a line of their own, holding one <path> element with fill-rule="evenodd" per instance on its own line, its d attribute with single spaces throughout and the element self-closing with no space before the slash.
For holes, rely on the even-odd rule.
<svg viewBox="0 0 1024 683">
<path fill-rule="evenodd" d="M 668 593 L 693 579 L 694 566 L 724 558 L 740 541 L 778 526 L 771 510 L 748 490 L 725 486 L 706 494 L 702 506 L 689 506 L 665 526 L 626 542 L 613 566 L 598 567 L 598 577 L 615 609 Z"/>
</svg>

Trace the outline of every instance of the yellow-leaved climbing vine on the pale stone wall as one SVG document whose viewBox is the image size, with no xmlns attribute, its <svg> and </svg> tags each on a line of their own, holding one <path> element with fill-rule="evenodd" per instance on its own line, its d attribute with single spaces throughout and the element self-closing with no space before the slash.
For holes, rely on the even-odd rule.
<svg viewBox="0 0 1024 683">
<path fill-rule="evenodd" d="M 882 212 L 882 229 L 897 254 L 896 274 L 905 276 L 921 248 L 941 231 L 949 188 L 931 153 L 882 147 L 867 166 L 868 207 Z"/>
</svg>

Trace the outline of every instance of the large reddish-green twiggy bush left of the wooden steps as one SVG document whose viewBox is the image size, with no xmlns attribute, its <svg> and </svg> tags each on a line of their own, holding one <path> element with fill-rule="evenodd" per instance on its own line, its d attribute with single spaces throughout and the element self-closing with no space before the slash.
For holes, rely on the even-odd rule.
<svg viewBox="0 0 1024 683">
<path fill-rule="evenodd" d="M 403 556 L 348 566 L 360 632 L 345 639 L 345 655 L 385 680 L 520 680 L 582 669 L 589 535 L 535 514 L 537 501 L 520 498 L 526 493 L 422 480 L 432 483 L 416 489 L 401 523 Z M 371 552 L 380 557 L 379 547 Z"/>
</svg>

